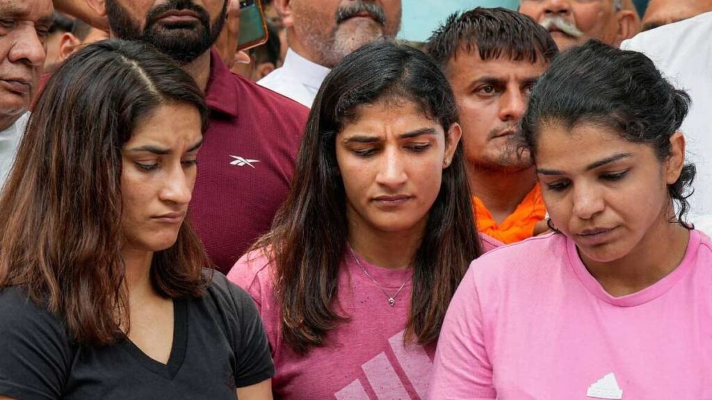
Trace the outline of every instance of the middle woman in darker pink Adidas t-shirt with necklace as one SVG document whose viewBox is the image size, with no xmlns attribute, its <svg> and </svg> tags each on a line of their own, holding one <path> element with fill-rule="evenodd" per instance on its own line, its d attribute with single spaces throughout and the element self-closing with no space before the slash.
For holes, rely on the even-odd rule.
<svg viewBox="0 0 712 400">
<path fill-rule="evenodd" d="M 423 53 L 348 56 L 314 102 L 288 201 L 228 278 L 258 305 L 290 399 L 417 399 L 483 246 L 454 95 Z"/>
</svg>

